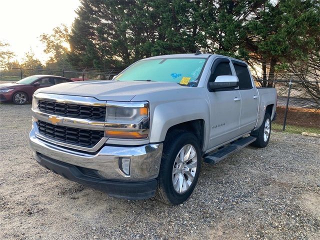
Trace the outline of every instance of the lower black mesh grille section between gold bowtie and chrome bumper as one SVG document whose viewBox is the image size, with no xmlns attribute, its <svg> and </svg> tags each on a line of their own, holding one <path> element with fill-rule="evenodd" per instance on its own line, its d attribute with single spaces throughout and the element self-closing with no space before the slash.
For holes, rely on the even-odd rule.
<svg viewBox="0 0 320 240">
<path fill-rule="evenodd" d="M 93 147 L 104 135 L 103 131 L 88 130 L 37 121 L 39 132 L 56 141 L 84 147 Z"/>
</svg>

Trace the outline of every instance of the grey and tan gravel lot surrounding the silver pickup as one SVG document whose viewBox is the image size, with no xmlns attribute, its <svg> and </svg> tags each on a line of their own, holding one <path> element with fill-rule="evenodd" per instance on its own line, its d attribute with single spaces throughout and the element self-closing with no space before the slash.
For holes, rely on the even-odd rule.
<svg viewBox="0 0 320 240">
<path fill-rule="evenodd" d="M 128 201 L 36 163 L 31 105 L 0 104 L 0 239 L 319 239 L 320 139 L 272 132 L 202 164 L 190 199 Z"/>
</svg>

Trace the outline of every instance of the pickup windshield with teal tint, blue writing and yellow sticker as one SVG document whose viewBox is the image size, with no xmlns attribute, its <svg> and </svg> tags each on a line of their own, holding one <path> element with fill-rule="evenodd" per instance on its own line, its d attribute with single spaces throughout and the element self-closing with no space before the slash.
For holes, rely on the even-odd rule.
<svg viewBox="0 0 320 240">
<path fill-rule="evenodd" d="M 197 86 L 206 58 L 156 58 L 140 60 L 118 74 L 119 81 L 169 81 Z"/>
</svg>

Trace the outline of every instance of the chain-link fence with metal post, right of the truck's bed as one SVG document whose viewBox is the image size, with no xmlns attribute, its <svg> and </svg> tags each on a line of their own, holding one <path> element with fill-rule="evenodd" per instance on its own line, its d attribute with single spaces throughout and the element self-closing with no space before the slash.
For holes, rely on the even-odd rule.
<svg viewBox="0 0 320 240">
<path fill-rule="evenodd" d="M 259 79 L 256 82 L 260 85 Z M 277 117 L 272 129 L 320 136 L 320 82 L 299 80 L 292 75 L 289 79 L 272 80 L 269 85 L 278 94 Z"/>
</svg>

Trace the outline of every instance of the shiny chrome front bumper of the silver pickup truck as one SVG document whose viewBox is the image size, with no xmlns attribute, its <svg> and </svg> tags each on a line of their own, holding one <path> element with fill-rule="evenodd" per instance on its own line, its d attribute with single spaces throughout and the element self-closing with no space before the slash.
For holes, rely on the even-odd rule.
<svg viewBox="0 0 320 240">
<path fill-rule="evenodd" d="M 142 146 L 102 146 L 91 152 L 64 148 L 36 136 L 34 127 L 29 133 L 30 146 L 35 159 L 38 153 L 72 165 L 97 170 L 97 173 L 110 180 L 142 181 L 157 177 L 160 168 L 162 143 Z M 119 168 L 119 157 L 130 158 L 130 175 Z"/>
</svg>

